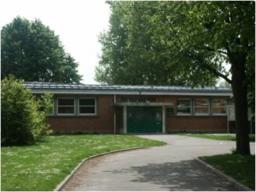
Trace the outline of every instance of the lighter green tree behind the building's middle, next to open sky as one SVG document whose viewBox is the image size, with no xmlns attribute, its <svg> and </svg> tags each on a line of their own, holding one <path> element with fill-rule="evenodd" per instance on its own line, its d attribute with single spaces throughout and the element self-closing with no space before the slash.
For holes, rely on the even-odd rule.
<svg viewBox="0 0 256 192">
<path fill-rule="evenodd" d="M 191 85 L 179 64 L 185 60 L 172 60 L 169 41 L 152 38 L 154 26 L 138 7 L 141 3 L 109 3 L 110 30 L 99 37 L 102 56 L 96 80 L 103 84 Z M 214 85 L 216 78 L 207 77 L 204 82 L 202 85 Z"/>
</svg>

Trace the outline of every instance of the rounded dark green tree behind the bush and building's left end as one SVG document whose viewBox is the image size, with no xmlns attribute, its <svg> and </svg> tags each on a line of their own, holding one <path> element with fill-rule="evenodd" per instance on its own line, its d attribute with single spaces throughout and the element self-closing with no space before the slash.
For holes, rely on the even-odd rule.
<svg viewBox="0 0 256 192">
<path fill-rule="evenodd" d="M 18 16 L 1 30 L 1 79 L 14 74 L 25 81 L 79 83 L 78 65 L 40 20 Z"/>
</svg>

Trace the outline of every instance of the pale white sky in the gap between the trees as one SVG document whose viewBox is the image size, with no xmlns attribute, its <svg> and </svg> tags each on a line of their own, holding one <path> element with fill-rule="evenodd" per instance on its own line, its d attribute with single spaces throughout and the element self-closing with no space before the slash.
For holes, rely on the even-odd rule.
<svg viewBox="0 0 256 192">
<path fill-rule="evenodd" d="M 16 16 L 28 20 L 39 18 L 59 36 L 65 52 L 79 62 L 83 84 L 98 84 L 94 80 L 101 45 L 98 35 L 108 30 L 110 7 L 101 0 L 1 0 L 0 27 Z"/>
</svg>

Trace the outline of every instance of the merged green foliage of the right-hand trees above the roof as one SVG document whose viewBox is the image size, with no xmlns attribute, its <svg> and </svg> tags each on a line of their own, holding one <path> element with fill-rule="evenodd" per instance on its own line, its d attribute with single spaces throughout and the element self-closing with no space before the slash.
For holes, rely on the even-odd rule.
<svg viewBox="0 0 256 192">
<path fill-rule="evenodd" d="M 96 80 L 106 84 L 214 85 L 244 53 L 255 79 L 253 1 L 110 1 Z M 249 70 L 251 68 L 251 70 Z M 247 75 L 249 77 L 249 75 Z M 254 86 L 255 87 L 255 86 Z"/>
</svg>

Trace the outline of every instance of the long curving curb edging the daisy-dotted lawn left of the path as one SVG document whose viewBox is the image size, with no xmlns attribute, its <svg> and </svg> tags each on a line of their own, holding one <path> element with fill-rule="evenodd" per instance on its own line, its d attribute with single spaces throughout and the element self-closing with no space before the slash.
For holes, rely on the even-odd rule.
<svg viewBox="0 0 256 192">
<path fill-rule="evenodd" d="M 75 174 L 75 172 L 77 172 L 77 170 L 80 168 L 80 166 L 82 166 L 82 164 L 84 164 L 84 162 L 86 162 L 87 160 L 90 160 L 92 158 L 96 158 L 98 156 L 108 155 L 108 154 L 111 154 L 111 153 L 118 153 L 118 152 L 122 152 L 122 151 L 131 151 L 131 150 L 135 150 L 135 149 L 145 149 L 145 148 L 148 148 L 148 147 L 133 147 L 133 148 L 127 148 L 127 149 L 119 149 L 119 150 L 110 151 L 110 152 L 106 152 L 106 153 L 100 153 L 98 155 L 92 155 L 90 157 L 84 158 L 74 168 L 74 170 L 63 181 L 61 181 L 61 183 L 59 183 L 59 185 L 57 185 L 57 187 L 53 191 L 60 191 L 64 187 L 64 185 L 67 183 L 67 181 L 69 181 L 71 179 L 71 177 Z"/>
</svg>

